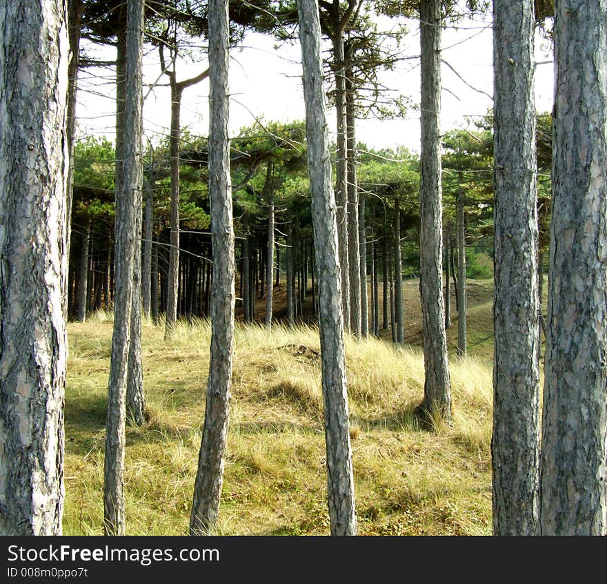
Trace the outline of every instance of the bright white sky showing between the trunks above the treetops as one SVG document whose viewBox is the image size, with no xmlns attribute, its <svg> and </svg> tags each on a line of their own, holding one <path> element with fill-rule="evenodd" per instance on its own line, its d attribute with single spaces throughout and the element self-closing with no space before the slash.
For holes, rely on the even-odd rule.
<svg viewBox="0 0 607 584">
<path fill-rule="evenodd" d="M 407 21 L 410 30 L 401 47 L 408 56 L 419 55 L 419 26 Z M 265 35 L 247 35 L 243 46 L 232 50 L 230 59 L 230 132 L 252 126 L 255 118 L 266 121 L 304 119 L 304 93 L 301 88 L 301 52 L 299 43 L 275 48 L 275 41 Z M 468 84 L 492 95 L 492 30 L 490 16 L 484 21 L 464 21 L 459 29 L 447 28 L 442 38 L 444 60 L 464 77 Z M 328 47 L 327 47 L 328 48 Z M 101 59 L 114 59 L 111 48 L 89 51 Z M 552 59 L 546 42 L 537 38 L 536 60 Z M 197 75 L 207 66 L 201 52 L 199 62 L 177 66 L 177 79 Z M 101 77 L 99 77 L 101 76 Z M 152 84 L 159 76 L 159 59 L 151 53 L 144 61 L 144 83 Z M 404 93 L 419 103 L 419 59 L 401 61 L 394 71 L 384 72 L 381 81 L 396 93 Z M 114 139 L 115 77 L 109 69 L 88 70 L 79 79 L 77 118 L 79 133 L 106 135 Z M 166 78 L 159 81 L 166 84 Z M 491 100 L 464 84 L 450 68 L 442 66 L 441 128 L 468 127 L 466 117 L 481 116 Z M 553 104 L 553 65 L 537 67 L 536 104 L 539 111 L 551 110 Z M 90 93 L 94 90 L 94 94 Z M 146 89 L 144 88 L 144 94 Z M 329 110 L 329 128 L 335 128 L 335 113 Z M 143 109 L 146 136 L 158 139 L 168 134 L 170 99 L 168 87 L 157 86 L 146 99 Z M 208 79 L 185 90 L 181 107 L 181 126 L 195 135 L 208 133 Z M 361 119 L 357 122 L 357 140 L 371 148 L 404 145 L 419 151 L 419 113 L 410 110 L 406 119 Z"/>
</svg>

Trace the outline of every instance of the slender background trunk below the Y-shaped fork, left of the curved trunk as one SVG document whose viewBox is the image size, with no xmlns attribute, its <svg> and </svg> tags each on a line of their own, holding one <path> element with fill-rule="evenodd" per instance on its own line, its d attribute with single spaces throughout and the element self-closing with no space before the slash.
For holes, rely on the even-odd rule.
<svg viewBox="0 0 607 584">
<path fill-rule="evenodd" d="M 179 302 L 179 137 L 181 124 L 181 89 L 175 82 L 175 73 L 170 77 L 171 127 L 170 127 L 170 250 L 168 256 L 168 297 L 164 338 L 168 338 L 177 320 Z"/>
</svg>

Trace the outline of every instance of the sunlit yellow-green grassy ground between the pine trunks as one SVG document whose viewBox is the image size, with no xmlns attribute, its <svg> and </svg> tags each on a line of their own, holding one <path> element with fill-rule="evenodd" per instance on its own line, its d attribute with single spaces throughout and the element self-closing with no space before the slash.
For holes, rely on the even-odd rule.
<svg viewBox="0 0 607 584">
<path fill-rule="evenodd" d="M 359 534 L 490 534 L 492 282 L 468 283 L 468 347 L 448 332 L 454 423 L 420 429 L 419 281 L 405 283 L 406 340 L 346 339 Z M 277 306 L 280 311 L 280 295 Z M 455 313 L 455 301 L 453 302 Z M 260 303 L 261 315 L 261 303 Z M 258 315 L 258 316 L 259 316 Z M 68 535 L 101 534 L 103 448 L 112 322 L 68 328 Z M 386 333 L 391 340 L 391 333 Z M 186 534 L 204 414 L 210 326 L 181 323 L 172 339 L 143 326 L 149 420 L 127 428 L 128 534 Z M 221 534 L 328 534 L 319 338 L 237 324 Z"/>
</svg>

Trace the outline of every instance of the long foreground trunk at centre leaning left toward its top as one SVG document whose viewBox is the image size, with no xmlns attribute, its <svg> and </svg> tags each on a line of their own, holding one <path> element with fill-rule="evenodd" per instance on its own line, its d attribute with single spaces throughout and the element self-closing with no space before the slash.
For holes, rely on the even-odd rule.
<svg viewBox="0 0 607 584">
<path fill-rule="evenodd" d="M 344 361 L 344 320 L 341 310 L 337 217 L 324 103 L 320 22 L 315 0 L 300 0 L 298 8 L 306 101 L 308 173 L 312 191 L 312 224 L 319 275 L 319 327 L 328 507 L 331 534 L 355 535 L 354 476 Z"/>
</svg>

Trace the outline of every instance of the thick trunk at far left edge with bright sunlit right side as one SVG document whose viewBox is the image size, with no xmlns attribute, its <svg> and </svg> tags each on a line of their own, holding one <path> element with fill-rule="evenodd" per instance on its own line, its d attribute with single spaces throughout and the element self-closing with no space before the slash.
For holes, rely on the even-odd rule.
<svg viewBox="0 0 607 584">
<path fill-rule="evenodd" d="M 4 2 L 0 30 L 0 535 L 61 535 L 66 3 Z"/>
</svg>

